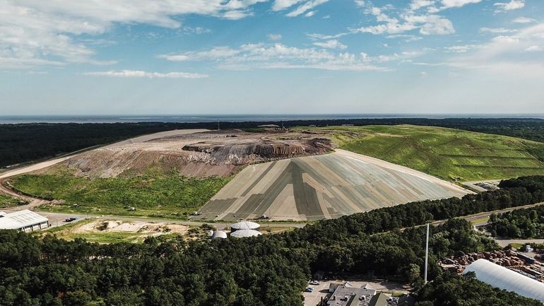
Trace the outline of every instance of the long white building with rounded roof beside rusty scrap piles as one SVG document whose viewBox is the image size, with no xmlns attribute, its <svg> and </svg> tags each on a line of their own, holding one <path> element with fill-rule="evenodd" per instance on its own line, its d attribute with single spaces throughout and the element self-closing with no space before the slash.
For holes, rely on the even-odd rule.
<svg viewBox="0 0 544 306">
<path fill-rule="evenodd" d="M 483 281 L 493 287 L 514 291 L 526 298 L 544 302 L 544 283 L 504 268 L 504 266 L 493 264 L 485 259 L 478 259 L 468 265 L 463 274 L 468 272 L 474 272 L 478 281 Z"/>
</svg>

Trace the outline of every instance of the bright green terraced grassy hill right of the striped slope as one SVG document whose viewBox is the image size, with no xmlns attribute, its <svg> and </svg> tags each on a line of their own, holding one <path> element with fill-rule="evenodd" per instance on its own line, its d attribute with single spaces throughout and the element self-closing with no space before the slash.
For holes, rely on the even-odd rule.
<svg viewBox="0 0 544 306">
<path fill-rule="evenodd" d="M 340 148 L 445 180 L 544 174 L 544 143 L 433 126 L 327 126 Z"/>
</svg>

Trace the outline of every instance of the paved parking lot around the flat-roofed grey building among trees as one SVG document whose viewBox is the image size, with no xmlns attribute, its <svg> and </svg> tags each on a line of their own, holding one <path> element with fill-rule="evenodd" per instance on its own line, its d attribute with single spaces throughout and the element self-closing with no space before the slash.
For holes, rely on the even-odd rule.
<svg viewBox="0 0 544 306">
<path fill-rule="evenodd" d="M 321 298 L 325 299 L 329 295 L 329 285 L 331 283 L 345 283 L 349 281 L 354 287 L 361 287 L 365 284 L 369 284 L 372 288 L 376 288 L 378 291 L 384 291 L 388 293 L 407 293 L 408 287 L 404 286 L 403 283 L 395 283 L 391 281 L 365 281 L 365 280 L 336 280 L 336 281 L 321 281 L 319 285 L 309 285 L 308 287 L 314 288 L 314 292 L 303 292 L 304 296 L 304 306 L 316 306 Z"/>
</svg>

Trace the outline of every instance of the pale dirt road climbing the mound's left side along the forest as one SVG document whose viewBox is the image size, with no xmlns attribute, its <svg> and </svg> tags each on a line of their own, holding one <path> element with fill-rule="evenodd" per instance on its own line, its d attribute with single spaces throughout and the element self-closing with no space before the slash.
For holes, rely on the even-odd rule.
<svg viewBox="0 0 544 306">
<path fill-rule="evenodd" d="M 131 143 L 142 143 L 142 142 L 150 141 L 150 140 L 153 140 L 153 139 L 159 139 L 159 138 L 166 137 L 166 136 L 194 134 L 194 133 L 201 133 L 201 132 L 204 132 L 204 131 L 209 131 L 209 130 L 208 129 L 175 129 L 175 130 L 172 130 L 172 131 L 160 131 L 158 133 L 137 136 L 137 137 L 134 137 L 134 138 L 131 138 L 131 139 L 126 139 L 124 141 L 119 141 L 119 142 L 116 142 L 116 143 L 112 143 L 112 144 L 109 144 L 109 145 L 107 145 L 105 147 L 113 148 L 113 147 L 116 147 L 116 146 L 124 146 L 126 144 L 131 144 Z M 95 147 L 93 147 L 93 148 L 95 148 Z M 32 207 L 48 203 L 49 201 L 44 200 L 44 199 L 38 199 L 38 198 L 35 198 L 35 197 L 32 197 L 32 196 L 27 196 L 25 194 L 19 194 L 18 192 L 14 191 L 13 189 L 11 189 L 6 184 L 6 180 L 8 180 L 9 177 L 13 177 L 13 176 L 16 176 L 16 175 L 23 175 L 23 174 L 28 173 L 28 172 L 41 170 L 41 169 L 44 169 L 46 167 L 51 167 L 51 166 L 57 165 L 58 163 L 62 163 L 62 162 L 64 162 L 64 160 L 67 160 L 69 158 L 73 158 L 74 156 L 76 156 L 78 154 L 81 154 L 84 151 L 86 151 L 86 150 L 77 151 L 76 153 L 70 153 L 68 155 L 64 155 L 64 156 L 59 157 L 59 158 L 53 158 L 51 160 L 46 160 L 46 161 L 41 162 L 41 163 L 35 163 L 35 164 L 32 164 L 32 165 L 23 166 L 23 167 L 20 167 L 20 168 L 16 168 L 16 169 L 13 169 L 13 170 L 8 170 L 6 172 L 0 173 L 0 194 L 8 194 L 9 196 L 14 196 L 14 197 L 16 197 L 18 199 L 23 199 L 25 201 L 28 201 L 28 203 L 29 203 L 28 205 L 18 206 L 18 207 L 16 207 L 16 210 L 30 209 Z"/>
</svg>

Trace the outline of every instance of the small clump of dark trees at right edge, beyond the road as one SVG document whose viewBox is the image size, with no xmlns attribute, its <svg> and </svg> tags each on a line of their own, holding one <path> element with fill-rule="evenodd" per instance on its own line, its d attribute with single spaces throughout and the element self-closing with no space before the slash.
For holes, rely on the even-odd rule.
<svg viewBox="0 0 544 306">
<path fill-rule="evenodd" d="M 544 206 L 493 214 L 488 230 L 494 237 L 544 238 Z"/>
</svg>

